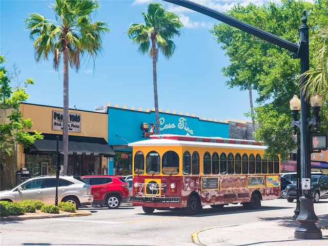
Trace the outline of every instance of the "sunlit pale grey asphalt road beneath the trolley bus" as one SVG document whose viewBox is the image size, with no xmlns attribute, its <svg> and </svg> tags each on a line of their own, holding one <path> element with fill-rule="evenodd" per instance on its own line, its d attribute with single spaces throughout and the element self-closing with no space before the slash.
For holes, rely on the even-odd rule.
<svg viewBox="0 0 328 246">
<path fill-rule="evenodd" d="M 116 210 L 85 207 L 91 216 L 29 219 L 0 222 L 0 244 L 11 245 L 195 245 L 192 235 L 211 227 L 227 227 L 256 221 L 291 218 L 296 202 L 262 201 L 258 210 L 240 204 L 222 210 L 204 207 L 198 215 L 181 210 L 146 215 L 141 207 L 124 204 Z M 316 214 L 327 213 L 328 200 L 314 204 Z M 250 229 L 251 230 L 251 229 Z"/>
</svg>

